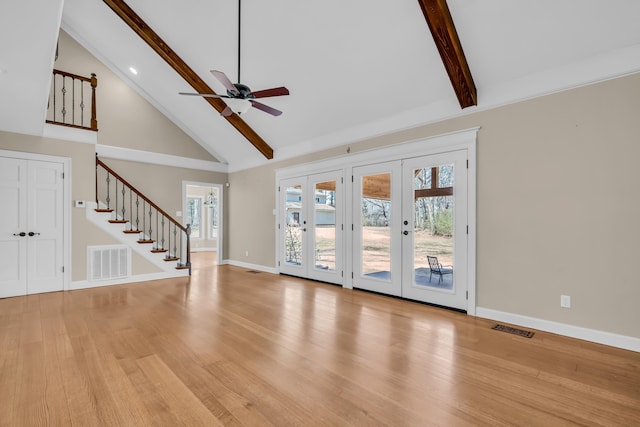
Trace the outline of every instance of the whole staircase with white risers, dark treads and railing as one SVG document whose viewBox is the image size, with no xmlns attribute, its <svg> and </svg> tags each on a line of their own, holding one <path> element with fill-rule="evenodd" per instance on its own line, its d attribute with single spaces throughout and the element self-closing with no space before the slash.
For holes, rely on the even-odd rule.
<svg viewBox="0 0 640 427">
<path fill-rule="evenodd" d="M 189 225 L 172 218 L 97 155 L 96 201 L 87 205 L 87 219 L 161 271 L 191 274 Z"/>
</svg>

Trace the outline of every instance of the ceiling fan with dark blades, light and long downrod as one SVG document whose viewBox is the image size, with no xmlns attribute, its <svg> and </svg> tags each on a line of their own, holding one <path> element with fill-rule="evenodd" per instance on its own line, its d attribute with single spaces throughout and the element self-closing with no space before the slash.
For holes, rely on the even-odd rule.
<svg viewBox="0 0 640 427">
<path fill-rule="evenodd" d="M 261 102 L 256 101 L 256 98 L 269 98 L 272 96 L 283 96 L 289 95 L 289 89 L 284 86 L 275 87 L 271 89 L 263 89 L 258 91 L 252 91 L 249 86 L 243 85 L 240 83 L 240 24 L 241 24 L 241 2 L 242 0 L 238 0 L 238 83 L 232 83 L 231 80 L 227 77 L 225 73 L 218 70 L 211 70 L 211 74 L 225 87 L 227 90 L 226 95 L 218 95 L 216 93 L 193 93 L 193 92 L 179 92 L 180 95 L 191 95 L 191 96 L 201 96 L 205 98 L 225 98 L 229 100 L 241 100 L 246 101 L 242 102 L 243 105 L 237 109 L 238 114 L 242 114 L 246 112 L 249 108 L 254 107 L 258 110 L 264 111 L 265 113 L 271 114 L 272 116 L 279 116 L 282 114 L 282 111 L 277 110 L 273 107 L 265 105 Z M 227 107 L 222 111 L 223 116 L 230 116 L 234 113 L 234 111 L 229 106 L 230 103 L 227 102 Z"/>
</svg>

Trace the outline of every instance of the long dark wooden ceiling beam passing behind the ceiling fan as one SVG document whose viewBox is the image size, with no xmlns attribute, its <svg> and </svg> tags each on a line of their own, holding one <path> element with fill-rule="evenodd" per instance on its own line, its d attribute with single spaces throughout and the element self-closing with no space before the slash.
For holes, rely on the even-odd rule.
<svg viewBox="0 0 640 427">
<path fill-rule="evenodd" d="M 167 64 L 171 66 L 198 93 L 215 93 L 213 89 L 198 76 L 162 38 L 149 27 L 124 1 L 103 0 L 131 29 L 144 40 Z M 226 108 L 226 104 L 219 98 L 204 98 L 218 113 Z M 238 130 L 254 147 L 267 159 L 273 159 L 273 148 L 269 146 L 251 127 L 233 113 L 225 119 Z"/>
</svg>

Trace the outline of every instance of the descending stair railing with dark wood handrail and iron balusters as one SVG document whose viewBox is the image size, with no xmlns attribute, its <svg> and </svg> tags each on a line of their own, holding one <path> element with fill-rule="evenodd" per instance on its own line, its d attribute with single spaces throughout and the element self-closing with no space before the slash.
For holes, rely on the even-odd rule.
<svg viewBox="0 0 640 427">
<path fill-rule="evenodd" d="M 100 185 L 99 185 L 100 184 Z M 191 274 L 191 224 L 183 226 L 96 154 L 97 212 L 113 212 L 111 223 L 127 224 L 124 232 L 138 234 L 138 243 L 151 244 L 153 253 L 165 253 L 165 261 L 178 261 L 177 269 Z"/>
</svg>

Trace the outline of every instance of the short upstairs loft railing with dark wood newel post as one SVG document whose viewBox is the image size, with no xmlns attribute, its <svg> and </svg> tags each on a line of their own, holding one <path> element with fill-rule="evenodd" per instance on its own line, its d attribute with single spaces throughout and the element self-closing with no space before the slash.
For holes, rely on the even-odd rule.
<svg viewBox="0 0 640 427">
<path fill-rule="evenodd" d="M 91 77 L 83 77 L 54 69 L 46 122 L 97 131 L 97 86 L 98 79 L 93 73 Z M 85 117 L 87 103 L 91 104 L 91 118 Z"/>
</svg>

